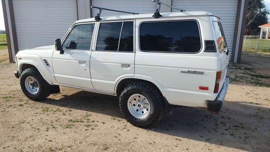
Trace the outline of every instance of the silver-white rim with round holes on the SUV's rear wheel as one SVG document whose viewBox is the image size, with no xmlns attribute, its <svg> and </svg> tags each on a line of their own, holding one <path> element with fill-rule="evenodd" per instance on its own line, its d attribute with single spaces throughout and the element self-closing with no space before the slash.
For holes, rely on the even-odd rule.
<svg viewBox="0 0 270 152">
<path fill-rule="evenodd" d="M 128 109 L 138 119 L 146 118 L 150 112 L 149 101 L 141 94 L 133 94 L 128 99 Z"/>
</svg>

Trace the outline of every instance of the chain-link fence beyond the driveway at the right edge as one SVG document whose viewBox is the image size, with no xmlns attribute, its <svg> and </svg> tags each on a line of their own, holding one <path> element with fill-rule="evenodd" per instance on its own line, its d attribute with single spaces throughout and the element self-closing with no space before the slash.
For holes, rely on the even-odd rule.
<svg viewBox="0 0 270 152">
<path fill-rule="evenodd" d="M 262 37 L 265 39 L 265 36 Z M 244 35 L 243 48 L 270 51 L 270 40 L 260 39 L 260 36 Z"/>
</svg>

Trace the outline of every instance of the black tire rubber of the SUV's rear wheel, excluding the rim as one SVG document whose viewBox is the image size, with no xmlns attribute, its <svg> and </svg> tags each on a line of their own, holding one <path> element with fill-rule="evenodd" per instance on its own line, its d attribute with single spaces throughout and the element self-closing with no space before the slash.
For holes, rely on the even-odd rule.
<svg viewBox="0 0 270 152">
<path fill-rule="evenodd" d="M 128 99 L 133 94 L 141 94 L 149 101 L 151 108 L 146 118 L 138 119 L 130 113 Z M 123 117 L 132 125 L 140 128 L 151 127 L 166 115 L 166 106 L 161 92 L 151 84 L 144 82 L 134 82 L 126 86 L 120 95 L 119 106 Z"/>
</svg>

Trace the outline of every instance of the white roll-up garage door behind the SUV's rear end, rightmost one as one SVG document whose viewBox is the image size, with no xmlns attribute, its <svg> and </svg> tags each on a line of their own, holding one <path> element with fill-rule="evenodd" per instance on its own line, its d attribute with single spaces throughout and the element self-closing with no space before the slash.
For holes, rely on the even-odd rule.
<svg viewBox="0 0 270 152">
<path fill-rule="evenodd" d="M 227 45 L 232 53 L 238 0 L 173 0 L 172 6 L 186 11 L 208 11 L 217 14 L 221 18 Z"/>
</svg>

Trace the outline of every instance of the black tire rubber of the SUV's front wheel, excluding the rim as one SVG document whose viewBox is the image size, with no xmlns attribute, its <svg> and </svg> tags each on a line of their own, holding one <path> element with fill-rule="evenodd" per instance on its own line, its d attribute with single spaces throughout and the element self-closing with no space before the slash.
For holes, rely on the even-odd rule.
<svg viewBox="0 0 270 152">
<path fill-rule="evenodd" d="M 27 77 L 33 77 L 38 82 L 40 89 L 36 94 L 31 94 L 27 91 L 25 87 L 25 80 Z M 50 85 L 46 82 L 46 80 L 44 80 L 41 73 L 35 67 L 30 67 L 22 71 L 20 85 L 24 95 L 34 101 L 43 100 L 51 94 Z"/>
</svg>

